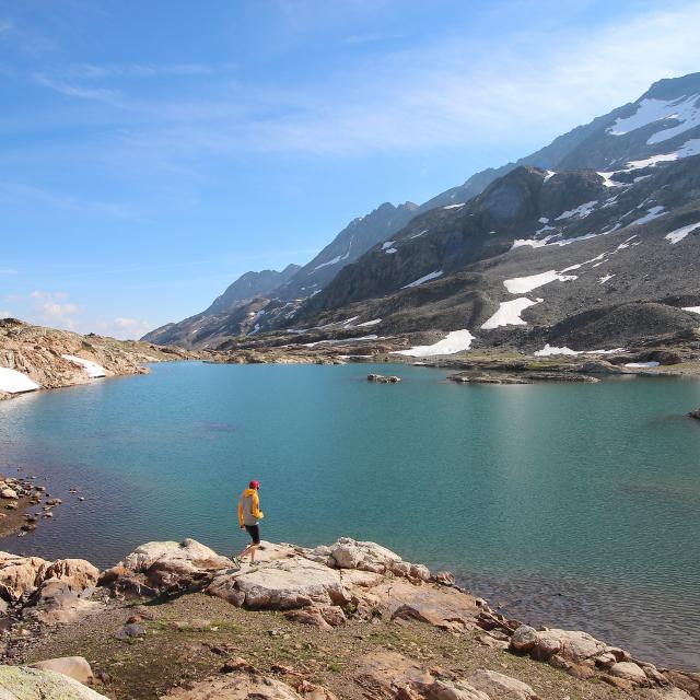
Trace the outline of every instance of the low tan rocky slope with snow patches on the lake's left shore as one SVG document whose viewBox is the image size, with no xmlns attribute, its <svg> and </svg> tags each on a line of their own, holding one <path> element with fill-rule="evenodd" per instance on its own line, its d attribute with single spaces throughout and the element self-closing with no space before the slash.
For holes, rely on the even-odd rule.
<svg viewBox="0 0 700 700">
<path fill-rule="evenodd" d="M 0 399 L 97 377 L 143 374 L 149 362 L 200 357 L 180 348 L 32 326 L 0 319 Z"/>
</svg>

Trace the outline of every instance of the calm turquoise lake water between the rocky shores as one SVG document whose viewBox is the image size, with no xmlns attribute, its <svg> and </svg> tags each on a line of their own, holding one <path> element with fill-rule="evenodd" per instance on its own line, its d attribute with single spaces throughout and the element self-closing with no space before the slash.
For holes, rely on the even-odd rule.
<svg viewBox="0 0 700 700">
<path fill-rule="evenodd" d="M 389 369 L 401 384 L 366 382 Z M 0 470 L 65 504 L 0 547 L 102 567 L 153 539 L 230 553 L 256 478 L 267 539 L 376 540 L 518 619 L 700 668 L 700 382 L 446 374 L 174 363 L 2 401 Z"/>
</svg>

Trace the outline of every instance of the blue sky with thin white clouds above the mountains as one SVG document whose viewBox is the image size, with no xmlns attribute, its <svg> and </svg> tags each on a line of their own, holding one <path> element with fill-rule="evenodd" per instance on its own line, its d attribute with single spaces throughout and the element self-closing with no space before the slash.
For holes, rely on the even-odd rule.
<svg viewBox="0 0 700 700">
<path fill-rule="evenodd" d="M 700 70 L 700 2 L 0 0 L 0 316 L 140 336 Z"/>
</svg>

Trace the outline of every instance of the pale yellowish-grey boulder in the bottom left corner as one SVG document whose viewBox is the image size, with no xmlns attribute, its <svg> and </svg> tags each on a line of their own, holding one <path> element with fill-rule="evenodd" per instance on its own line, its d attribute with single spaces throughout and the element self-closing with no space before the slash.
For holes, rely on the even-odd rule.
<svg viewBox="0 0 700 700">
<path fill-rule="evenodd" d="M 108 700 L 55 670 L 0 666 L 0 700 Z"/>
</svg>

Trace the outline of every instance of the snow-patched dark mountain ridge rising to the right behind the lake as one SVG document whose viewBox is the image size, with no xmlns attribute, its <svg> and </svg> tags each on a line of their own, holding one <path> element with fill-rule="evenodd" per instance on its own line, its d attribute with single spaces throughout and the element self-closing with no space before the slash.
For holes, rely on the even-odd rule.
<svg viewBox="0 0 700 700">
<path fill-rule="evenodd" d="M 472 348 L 695 342 L 700 73 L 416 206 L 353 220 L 304 267 L 247 272 L 144 340 L 215 349 L 468 331 Z M 465 336 L 466 337 L 466 336 Z"/>
</svg>

